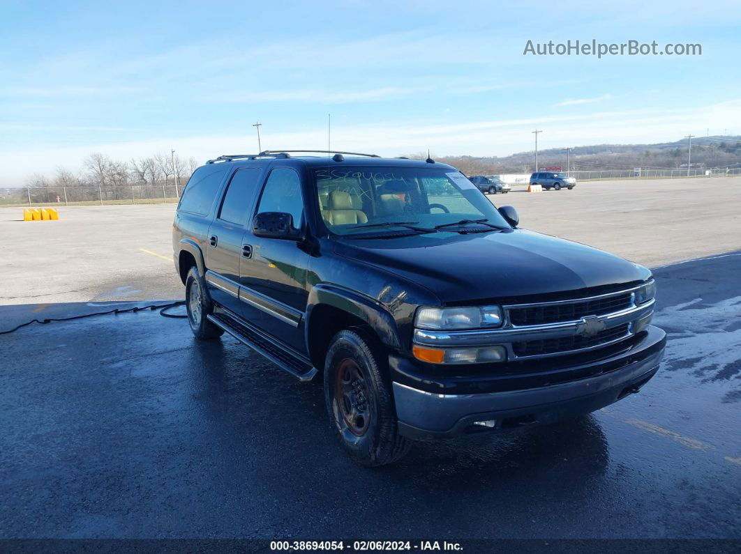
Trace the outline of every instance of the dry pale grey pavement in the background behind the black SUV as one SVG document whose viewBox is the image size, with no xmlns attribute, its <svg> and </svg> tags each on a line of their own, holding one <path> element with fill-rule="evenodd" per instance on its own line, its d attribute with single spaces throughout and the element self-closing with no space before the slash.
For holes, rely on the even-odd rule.
<svg viewBox="0 0 741 554">
<path fill-rule="evenodd" d="M 741 249 L 741 178 L 580 183 L 572 191 L 494 195 L 521 226 L 655 267 Z M 173 204 L 60 208 L 24 222 L 0 209 L 0 305 L 176 299 Z"/>
</svg>

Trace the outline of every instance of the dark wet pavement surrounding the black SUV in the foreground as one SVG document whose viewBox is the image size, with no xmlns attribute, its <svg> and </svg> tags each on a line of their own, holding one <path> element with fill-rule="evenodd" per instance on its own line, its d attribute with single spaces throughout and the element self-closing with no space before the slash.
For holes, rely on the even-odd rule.
<svg viewBox="0 0 741 554">
<path fill-rule="evenodd" d="M 641 393 L 375 470 L 321 387 L 185 320 L 0 335 L 0 537 L 741 538 L 741 254 L 654 273 L 669 342 Z M 0 328 L 95 305 L 12 308 Z"/>
</svg>

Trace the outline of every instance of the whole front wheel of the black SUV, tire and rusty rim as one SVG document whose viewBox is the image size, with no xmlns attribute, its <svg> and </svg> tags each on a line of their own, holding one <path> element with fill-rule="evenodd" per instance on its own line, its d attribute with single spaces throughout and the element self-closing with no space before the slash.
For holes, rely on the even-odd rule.
<svg viewBox="0 0 741 554">
<path fill-rule="evenodd" d="M 386 465 L 408 453 L 411 442 L 399 435 L 391 385 L 372 340 L 339 331 L 327 352 L 324 388 L 332 426 L 355 462 Z"/>
</svg>

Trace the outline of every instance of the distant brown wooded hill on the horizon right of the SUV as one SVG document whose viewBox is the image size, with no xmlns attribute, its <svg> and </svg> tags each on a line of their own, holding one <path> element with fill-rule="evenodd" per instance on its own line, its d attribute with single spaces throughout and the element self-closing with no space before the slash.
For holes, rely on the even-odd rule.
<svg viewBox="0 0 741 554">
<path fill-rule="evenodd" d="M 688 139 L 657 144 L 594 144 L 574 146 L 568 156 L 572 170 L 687 167 Z M 413 155 L 412 158 L 427 158 Z M 535 151 L 504 157 L 434 156 L 467 175 L 529 173 L 535 168 Z M 566 149 L 538 150 L 538 165 L 566 169 Z M 741 167 L 741 135 L 692 138 L 692 167 Z"/>
</svg>

